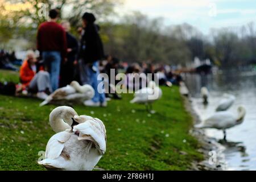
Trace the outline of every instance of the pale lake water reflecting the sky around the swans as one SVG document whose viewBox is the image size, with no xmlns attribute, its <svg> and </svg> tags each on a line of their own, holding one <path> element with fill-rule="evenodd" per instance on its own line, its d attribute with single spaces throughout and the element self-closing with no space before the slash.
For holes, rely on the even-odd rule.
<svg viewBox="0 0 256 182">
<path fill-rule="evenodd" d="M 229 170 L 256 170 L 256 74 L 224 72 L 221 75 L 185 75 L 185 82 L 193 97 L 192 105 L 201 119 L 206 119 L 214 113 L 222 94 L 230 93 L 236 96 L 230 111 L 236 113 L 237 107 L 243 105 L 246 115 L 241 125 L 227 131 L 228 143 L 225 147 L 225 158 Z M 207 86 L 210 97 L 209 104 L 203 105 L 200 89 Z M 221 140 L 222 131 L 205 130 L 209 137 Z"/>
</svg>

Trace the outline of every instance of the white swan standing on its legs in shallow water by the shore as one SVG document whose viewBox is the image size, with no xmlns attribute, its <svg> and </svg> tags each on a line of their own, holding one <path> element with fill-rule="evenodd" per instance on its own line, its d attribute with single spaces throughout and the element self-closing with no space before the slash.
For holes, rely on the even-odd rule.
<svg viewBox="0 0 256 182">
<path fill-rule="evenodd" d="M 226 129 L 230 127 L 240 125 L 245 118 L 246 110 L 245 107 L 238 107 L 238 114 L 234 114 L 230 111 L 219 111 L 214 113 L 211 117 L 206 119 L 204 122 L 196 125 L 197 128 L 214 128 L 223 130 L 224 140 L 226 140 Z"/>
</svg>

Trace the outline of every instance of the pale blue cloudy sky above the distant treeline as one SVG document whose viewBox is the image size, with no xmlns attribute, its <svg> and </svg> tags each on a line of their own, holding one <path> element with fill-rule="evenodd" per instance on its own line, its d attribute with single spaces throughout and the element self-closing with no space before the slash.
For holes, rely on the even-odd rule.
<svg viewBox="0 0 256 182">
<path fill-rule="evenodd" d="M 255 0 L 124 0 L 117 12 L 140 11 L 162 17 L 165 25 L 189 23 L 204 34 L 210 28 L 240 27 L 256 22 Z"/>
</svg>

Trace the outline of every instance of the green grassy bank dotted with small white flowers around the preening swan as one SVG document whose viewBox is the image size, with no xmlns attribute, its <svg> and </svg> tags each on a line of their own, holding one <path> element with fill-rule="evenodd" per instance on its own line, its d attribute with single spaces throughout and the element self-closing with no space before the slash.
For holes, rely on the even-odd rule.
<svg viewBox="0 0 256 182">
<path fill-rule="evenodd" d="M 1 81 L 18 81 L 18 75 L 0 70 Z M 185 170 L 195 160 L 199 144 L 189 135 L 192 118 L 185 111 L 179 89 L 162 88 L 155 114 L 143 105 L 130 104 L 133 94 L 123 94 L 108 107 L 75 106 L 78 114 L 100 118 L 107 130 L 107 150 L 97 167 L 106 170 Z M 0 96 L 0 169 L 45 170 L 37 164 L 55 134 L 48 117 L 55 105 L 39 107 L 40 100 Z M 134 112 L 135 111 L 135 112 Z"/>
</svg>

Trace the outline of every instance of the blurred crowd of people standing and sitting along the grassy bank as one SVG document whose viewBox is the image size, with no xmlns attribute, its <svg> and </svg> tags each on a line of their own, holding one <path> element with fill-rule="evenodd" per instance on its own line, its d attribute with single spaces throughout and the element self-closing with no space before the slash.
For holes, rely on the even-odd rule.
<svg viewBox="0 0 256 182">
<path fill-rule="evenodd" d="M 45 100 L 48 95 L 56 89 L 70 84 L 73 80 L 81 85 L 89 84 L 95 90 L 92 100 L 85 101 L 86 106 L 106 106 L 109 97 L 121 99 L 115 91 L 110 93 L 102 92 L 104 88 L 98 88 L 100 80 L 97 79 L 100 73 L 109 76 L 114 71 L 114 76 L 119 72 L 129 75 L 129 73 L 158 73 L 160 85 L 179 84 L 181 77 L 171 71 L 167 65 L 134 63 L 127 64 L 119 61 L 112 55 L 105 56 L 104 48 L 99 35 L 100 27 L 95 24 L 95 16 L 85 13 L 81 17 L 82 27 L 79 28 L 80 41 L 69 31 L 69 22 L 57 23 L 59 11 L 52 9 L 49 11 L 49 20 L 40 24 L 37 33 L 37 49 L 39 55 L 34 51 L 27 51 L 24 61 L 15 57 L 15 52 L 0 52 L 0 68 L 16 71 L 15 65 L 20 67 L 21 86 L 18 90 L 22 93 L 36 93 L 36 96 Z M 110 83 L 110 80 L 108 80 Z M 114 82 L 116 84 L 116 82 Z M 128 89 L 141 88 L 146 85 L 146 80 L 139 83 L 133 78 L 127 77 L 125 82 Z M 138 87 L 134 86 L 138 84 Z M 113 85 L 110 89 L 114 89 Z"/>
</svg>

